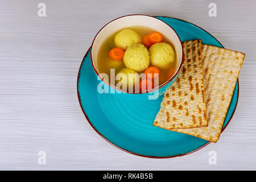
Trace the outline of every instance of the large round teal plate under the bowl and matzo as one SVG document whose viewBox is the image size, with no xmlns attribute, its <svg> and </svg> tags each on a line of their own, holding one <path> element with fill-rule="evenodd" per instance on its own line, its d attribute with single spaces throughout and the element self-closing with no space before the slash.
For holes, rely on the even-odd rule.
<svg viewBox="0 0 256 182">
<path fill-rule="evenodd" d="M 201 39 L 203 44 L 223 47 L 202 28 L 184 20 L 156 16 L 169 24 L 182 42 Z M 163 96 L 158 100 L 124 101 L 111 93 L 98 93 L 97 76 L 90 61 L 90 49 L 82 60 L 77 94 L 90 125 L 109 143 L 131 154 L 150 158 L 171 158 L 195 152 L 210 142 L 191 135 L 152 126 Z M 222 131 L 232 118 L 238 101 L 238 80 Z"/>
</svg>

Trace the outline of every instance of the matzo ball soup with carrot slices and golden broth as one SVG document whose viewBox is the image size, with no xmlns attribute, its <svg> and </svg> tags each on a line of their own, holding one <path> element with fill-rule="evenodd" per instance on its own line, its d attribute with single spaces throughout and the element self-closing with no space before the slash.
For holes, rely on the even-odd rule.
<svg viewBox="0 0 256 182">
<path fill-rule="evenodd" d="M 141 26 L 124 28 L 109 35 L 100 46 L 97 59 L 98 71 L 108 75 L 107 81 L 110 82 L 110 69 L 115 69 L 115 76 L 118 73 L 127 76 L 115 77 L 113 85 L 126 91 L 128 84 L 133 90 L 139 88 L 140 91 L 160 86 L 174 75 L 177 67 L 170 40 L 156 30 Z M 138 79 L 137 73 L 145 73 L 146 78 Z M 158 85 L 154 84 L 155 79 L 158 79 Z"/>
</svg>

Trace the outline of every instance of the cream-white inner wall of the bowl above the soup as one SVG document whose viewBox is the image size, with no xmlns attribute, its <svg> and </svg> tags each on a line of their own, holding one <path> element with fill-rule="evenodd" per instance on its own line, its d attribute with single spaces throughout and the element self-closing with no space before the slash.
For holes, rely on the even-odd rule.
<svg viewBox="0 0 256 182">
<path fill-rule="evenodd" d="M 92 47 L 91 47 L 92 49 L 90 52 L 93 69 L 96 72 L 96 75 L 100 77 L 101 80 L 105 82 L 105 84 L 109 85 L 115 90 L 119 90 L 121 92 L 126 93 L 125 90 L 116 88 L 114 85 L 111 85 L 108 81 L 104 80 L 100 76 L 97 68 L 97 56 L 98 56 L 98 51 L 100 49 L 101 44 L 104 42 L 106 38 L 108 38 L 109 35 L 112 35 L 114 32 L 122 30 L 123 28 L 134 27 L 134 26 L 148 27 L 155 31 L 158 31 L 172 43 L 172 46 L 174 46 L 175 53 L 176 53 L 176 60 L 177 60 L 177 67 L 176 67 L 175 74 L 164 84 L 159 85 L 158 88 L 154 88 L 150 90 L 150 92 L 154 92 L 154 90 L 158 90 L 164 87 L 165 85 L 171 86 L 171 84 L 168 84 L 168 83 L 174 80 L 174 78 L 176 77 L 177 73 L 180 70 L 181 63 L 183 61 L 183 48 L 182 48 L 181 40 L 171 26 L 169 26 L 167 23 L 163 22 L 160 19 L 157 19 L 153 16 L 148 16 L 148 15 L 122 16 L 120 18 L 112 20 L 112 22 L 109 22 L 108 24 L 106 24 L 104 27 L 101 28 L 101 30 L 98 32 L 98 34 L 95 36 L 93 40 Z"/>
</svg>

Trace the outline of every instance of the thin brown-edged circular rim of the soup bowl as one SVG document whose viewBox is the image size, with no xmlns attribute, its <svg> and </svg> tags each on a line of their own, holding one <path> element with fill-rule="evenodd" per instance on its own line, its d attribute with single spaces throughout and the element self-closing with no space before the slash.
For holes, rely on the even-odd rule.
<svg viewBox="0 0 256 182">
<path fill-rule="evenodd" d="M 131 14 L 131 15 L 124 15 L 124 16 L 120 16 L 118 18 L 115 18 L 113 20 L 111 20 L 109 23 L 112 23 L 114 22 L 115 20 L 117 19 L 120 19 L 120 18 L 124 18 L 126 16 L 148 16 L 150 18 L 154 18 L 156 20 L 160 20 L 158 18 L 156 18 L 155 16 L 150 16 L 150 15 L 144 15 L 144 14 Z M 179 35 L 177 35 L 177 32 L 174 30 L 174 28 L 172 28 L 169 24 L 167 24 L 166 22 L 164 22 L 163 20 L 160 20 L 161 22 L 163 22 L 164 24 L 166 24 L 168 27 L 170 27 L 176 34 L 177 38 L 179 38 L 179 41 L 180 41 L 180 44 L 181 44 L 181 62 L 180 62 L 180 65 L 179 65 L 179 68 L 177 68 L 177 71 L 174 75 L 172 75 L 171 78 L 169 78 L 169 80 L 167 80 L 166 82 L 164 82 L 162 85 L 159 85 L 158 87 L 154 88 L 154 89 L 149 89 L 149 90 L 146 90 L 146 91 L 133 91 L 133 92 L 130 92 L 130 91 L 127 91 L 127 90 L 122 90 L 114 85 L 111 85 L 108 81 L 104 80 L 104 78 L 102 78 L 100 76 L 100 73 L 98 73 L 97 69 L 94 67 L 94 63 L 93 63 L 93 59 L 92 59 L 92 48 L 93 48 L 93 43 L 94 43 L 94 40 L 96 39 L 97 35 L 101 32 L 101 30 L 106 27 L 109 23 L 106 23 L 105 26 L 103 26 L 98 32 L 97 34 L 94 36 L 94 39 L 93 39 L 93 42 L 92 42 L 92 45 L 90 46 L 91 48 L 91 51 L 90 51 L 90 61 L 92 63 L 92 67 L 94 69 L 94 72 L 96 73 L 96 75 L 103 81 L 105 82 L 105 84 L 107 84 L 108 86 L 110 86 L 111 88 L 115 89 L 115 90 L 118 90 L 119 92 L 122 92 L 122 93 L 128 93 L 128 94 L 146 94 L 146 93 L 151 93 L 151 92 L 154 92 L 156 90 L 159 90 L 161 88 L 163 88 L 164 86 L 166 86 L 167 84 L 169 84 L 172 80 L 174 80 L 174 78 L 176 77 L 176 75 L 180 72 L 180 68 L 181 68 L 181 65 L 183 64 L 183 61 L 184 61 L 184 52 L 183 52 L 183 45 L 182 45 L 182 42 L 180 40 L 180 37 Z"/>
</svg>

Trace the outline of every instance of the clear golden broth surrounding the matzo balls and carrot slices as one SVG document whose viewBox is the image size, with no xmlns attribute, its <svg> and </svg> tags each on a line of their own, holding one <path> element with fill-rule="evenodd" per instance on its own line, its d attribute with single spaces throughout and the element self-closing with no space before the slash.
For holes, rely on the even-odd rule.
<svg viewBox="0 0 256 182">
<path fill-rule="evenodd" d="M 140 36 L 141 40 L 143 40 L 144 36 L 147 34 L 150 34 L 151 32 L 157 32 L 157 30 L 153 30 L 148 27 L 126 27 L 131 30 L 136 31 Z M 124 28 L 123 28 L 124 29 Z M 121 31 L 121 30 L 119 30 Z M 116 47 L 114 44 L 114 36 L 117 34 L 119 31 L 114 32 L 112 35 L 110 35 L 104 42 L 101 44 L 100 49 L 98 51 L 98 56 L 97 56 L 97 69 L 99 73 L 106 73 L 109 76 L 109 81 L 110 81 L 110 69 L 114 68 L 115 69 L 115 74 L 117 74 L 118 71 L 120 71 L 122 68 L 126 68 L 125 64 L 123 63 L 123 60 L 113 60 L 112 58 L 109 57 L 109 51 L 110 49 Z M 160 32 L 161 33 L 161 32 Z M 163 36 L 162 42 L 168 43 L 174 48 L 172 43 Z M 142 43 L 143 44 L 143 43 Z M 174 50 L 175 51 L 175 50 Z M 150 67 L 153 66 L 151 63 L 149 65 Z M 175 55 L 175 60 L 168 68 L 161 69 L 159 68 L 159 86 L 164 84 L 166 81 L 169 80 L 170 77 L 172 77 L 174 73 L 172 70 L 176 70 L 177 66 L 177 60 L 176 60 L 176 55 Z M 142 73 L 142 72 L 137 72 L 137 73 Z"/>
</svg>

